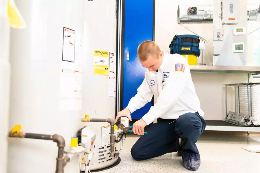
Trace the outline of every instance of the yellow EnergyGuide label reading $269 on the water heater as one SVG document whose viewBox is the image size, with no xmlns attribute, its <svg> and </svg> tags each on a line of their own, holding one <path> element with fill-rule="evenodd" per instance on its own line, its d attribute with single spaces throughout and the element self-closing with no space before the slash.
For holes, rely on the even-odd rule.
<svg viewBox="0 0 260 173">
<path fill-rule="evenodd" d="M 94 50 L 94 74 L 109 75 L 109 56 L 107 51 Z"/>
</svg>

